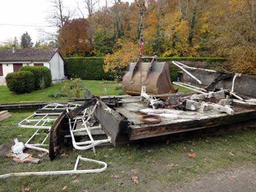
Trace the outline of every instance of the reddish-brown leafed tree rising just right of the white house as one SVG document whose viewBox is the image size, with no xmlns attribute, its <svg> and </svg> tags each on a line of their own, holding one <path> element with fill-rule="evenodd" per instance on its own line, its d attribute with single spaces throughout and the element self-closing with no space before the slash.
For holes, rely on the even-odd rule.
<svg viewBox="0 0 256 192">
<path fill-rule="evenodd" d="M 64 56 L 85 56 L 90 50 L 89 23 L 86 19 L 73 19 L 60 30 L 59 49 Z"/>
</svg>

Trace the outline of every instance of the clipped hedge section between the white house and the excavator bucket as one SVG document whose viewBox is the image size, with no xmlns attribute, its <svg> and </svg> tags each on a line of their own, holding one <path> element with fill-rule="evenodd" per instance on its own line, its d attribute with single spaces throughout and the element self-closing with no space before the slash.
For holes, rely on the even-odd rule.
<svg viewBox="0 0 256 192">
<path fill-rule="evenodd" d="M 65 76 L 82 80 L 113 80 L 103 70 L 104 57 L 69 57 L 65 59 Z"/>
</svg>

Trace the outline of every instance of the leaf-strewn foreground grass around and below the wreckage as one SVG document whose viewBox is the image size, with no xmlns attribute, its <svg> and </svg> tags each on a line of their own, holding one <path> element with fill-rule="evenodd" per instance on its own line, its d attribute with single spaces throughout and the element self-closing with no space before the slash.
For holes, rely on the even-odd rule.
<svg viewBox="0 0 256 192">
<path fill-rule="evenodd" d="M 197 176 L 229 166 L 256 165 L 255 131 L 229 133 L 220 136 L 201 137 L 193 142 L 174 141 L 163 143 L 130 144 L 117 147 L 97 148 L 97 155 L 91 151 L 77 151 L 65 148 L 68 156 L 59 156 L 49 161 L 47 155 L 40 164 L 19 164 L 5 155 L 11 150 L 13 139 L 26 142 L 35 130 L 19 128 L 18 122 L 32 111 L 14 112 L 13 117 L 0 122 L 0 173 L 38 172 L 46 170 L 73 169 L 77 155 L 108 163 L 105 172 L 61 176 L 9 177 L 0 180 L 0 191 L 21 191 L 28 186 L 30 191 L 171 191 L 177 185 L 192 181 Z M 189 152 L 195 158 L 189 158 Z M 28 151 L 34 157 L 42 152 Z M 231 154 L 231 155 L 230 155 Z M 96 168 L 81 162 L 79 169 Z M 139 178 L 134 184 L 131 177 Z M 65 190 L 62 190 L 67 186 Z"/>
</svg>

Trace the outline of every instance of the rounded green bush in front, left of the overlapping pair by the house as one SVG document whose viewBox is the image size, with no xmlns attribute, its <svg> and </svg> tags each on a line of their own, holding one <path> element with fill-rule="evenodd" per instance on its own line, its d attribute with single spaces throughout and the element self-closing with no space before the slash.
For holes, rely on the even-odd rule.
<svg viewBox="0 0 256 192">
<path fill-rule="evenodd" d="M 27 71 L 7 74 L 6 84 L 10 91 L 17 94 L 30 93 L 35 87 L 33 73 Z"/>
</svg>

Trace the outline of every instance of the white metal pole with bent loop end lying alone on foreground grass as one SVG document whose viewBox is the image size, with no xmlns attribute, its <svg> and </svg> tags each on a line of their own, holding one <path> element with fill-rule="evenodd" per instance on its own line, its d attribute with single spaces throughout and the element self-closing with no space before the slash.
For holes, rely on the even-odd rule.
<svg viewBox="0 0 256 192">
<path fill-rule="evenodd" d="M 103 168 L 100 169 L 87 169 L 87 170 L 77 170 L 77 166 L 79 165 L 79 161 L 85 161 L 85 162 L 94 162 L 96 164 L 104 165 Z M 8 173 L 3 174 L 0 176 L 0 178 L 6 178 L 11 176 L 47 176 L 47 175 L 53 175 L 53 174 L 81 174 L 81 173 L 100 173 L 104 172 L 107 168 L 107 164 L 102 161 L 92 160 L 90 158 L 84 158 L 79 155 L 76 159 L 75 168 L 73 170 L 57 170 L 53 172 L 24 172 L 24 173 Z"/>
</svg>

